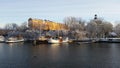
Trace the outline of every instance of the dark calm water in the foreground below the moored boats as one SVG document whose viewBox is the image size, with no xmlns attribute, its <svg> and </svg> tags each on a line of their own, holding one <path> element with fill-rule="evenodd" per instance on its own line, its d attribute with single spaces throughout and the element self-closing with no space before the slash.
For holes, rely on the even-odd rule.
<svg viewBox="0 0 120 68">
<path fill-rule="evenodd" d="M 0 43 L 0 68 L 120 68 L 120 44 Z"/>
</svg>

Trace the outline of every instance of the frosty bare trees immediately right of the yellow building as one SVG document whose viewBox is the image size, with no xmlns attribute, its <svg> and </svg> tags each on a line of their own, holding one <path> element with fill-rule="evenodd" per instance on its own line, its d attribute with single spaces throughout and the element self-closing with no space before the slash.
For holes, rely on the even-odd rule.
<svg viewBox="0 0 120 68">
<path fill-rule="evenodd" d="M 64 23 L 69 27 L 70 37 L 81 39 L 85 36 L 85 21 L 81 18 L 66 17 Z"/>
</svg>

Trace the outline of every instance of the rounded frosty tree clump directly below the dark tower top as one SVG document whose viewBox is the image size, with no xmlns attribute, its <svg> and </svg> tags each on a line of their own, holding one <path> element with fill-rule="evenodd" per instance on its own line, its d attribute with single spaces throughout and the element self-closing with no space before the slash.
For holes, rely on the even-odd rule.
<svg viewBox="0 0 120 68">
<path fill-rule="evenodd" d="M 92 38 L 107 37 L 112 29 L 113 25 L 110 22 L 106 22 L 102 19 L 91 20 L 86 26 L 88 37 Z"/>
</svg>

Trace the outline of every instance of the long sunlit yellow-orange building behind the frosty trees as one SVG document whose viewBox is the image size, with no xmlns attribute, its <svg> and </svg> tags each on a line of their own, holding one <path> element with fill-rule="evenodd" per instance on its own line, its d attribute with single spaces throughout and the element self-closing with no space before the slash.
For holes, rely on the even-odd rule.
<svg viewBox="0 0 120 68">
<path fill-rule="evenodd" d="M 39 30 L 68 30 L 68 27 L 61 23 L 56 23 L 49 20 L 42 19 L 28 19 L 28 26 L 32 29 Z"/>
</svg>

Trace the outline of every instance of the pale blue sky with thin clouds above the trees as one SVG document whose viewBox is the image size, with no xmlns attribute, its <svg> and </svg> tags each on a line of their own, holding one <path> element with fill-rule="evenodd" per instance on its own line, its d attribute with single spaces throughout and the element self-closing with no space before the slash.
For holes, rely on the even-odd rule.
<svg viewBox="0 0 120 68">
<path fill-rule="evenodd" d="M 89 21 L 95 14 L 110 22 L 120 21 L 120 0 L 0 0 L 0 27 L 28 18 L 63 22 L 73 16 Z"/>
</svg>

